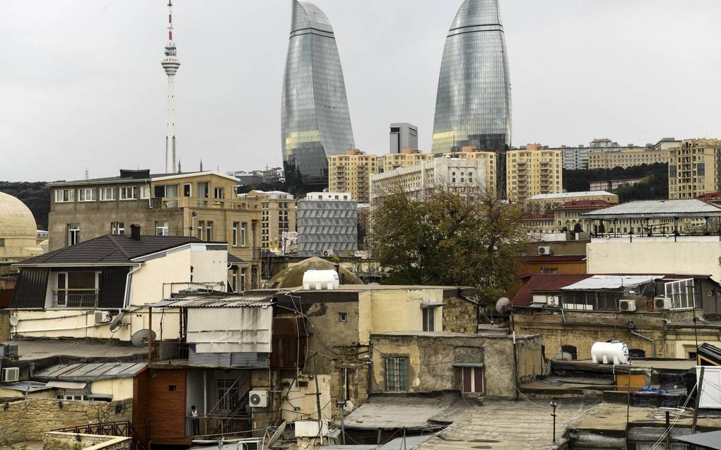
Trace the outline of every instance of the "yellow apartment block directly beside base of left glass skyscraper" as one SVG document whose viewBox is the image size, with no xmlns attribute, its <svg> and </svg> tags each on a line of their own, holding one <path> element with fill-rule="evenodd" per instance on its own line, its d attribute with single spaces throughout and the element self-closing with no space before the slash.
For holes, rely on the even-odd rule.
<svg viewBox="0 0 721 450">
<path fill-rule="evenodd" d="M 328 190 L 350 192 L 357 202 L 368 203 L 371 199 L 371 175 L 377 174 L 381 158 L 366 155 L 361 150 L 346 150 L 345 155 L 328 157 Z"/>
</svg>

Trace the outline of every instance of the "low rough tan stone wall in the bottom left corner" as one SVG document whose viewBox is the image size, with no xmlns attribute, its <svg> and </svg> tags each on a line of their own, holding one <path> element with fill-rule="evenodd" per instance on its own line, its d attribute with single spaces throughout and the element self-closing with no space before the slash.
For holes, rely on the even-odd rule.
<svg viewBox="0 0 721 450">
<path fill-rule="evenodd" d="M 0 408 L 0 436 L 13 444 L 20 441 L 41 441 L 48 431 L 81 426 L 87 423 L 122 422 L 133 416 L 132 400 L 118 402 L 87 402 L 28 399 L 9 402 Z M 116 410 L 119 412 L 116 413 Z"/>
</svg>

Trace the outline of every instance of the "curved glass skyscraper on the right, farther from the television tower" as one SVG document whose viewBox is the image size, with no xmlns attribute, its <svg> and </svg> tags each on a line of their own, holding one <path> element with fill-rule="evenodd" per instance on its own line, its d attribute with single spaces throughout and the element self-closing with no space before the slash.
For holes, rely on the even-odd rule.
<svg viewBox="0 0 721 450">
<path fill-rule="evenodd" d="M 498 184 L 505 178 L 510 147 L 511 105 L 508 54 L 499 0 L 465 0 L 443 50 L 435 100 L 433 153 L 473 145 L 499 153 Z"/>
</svg>

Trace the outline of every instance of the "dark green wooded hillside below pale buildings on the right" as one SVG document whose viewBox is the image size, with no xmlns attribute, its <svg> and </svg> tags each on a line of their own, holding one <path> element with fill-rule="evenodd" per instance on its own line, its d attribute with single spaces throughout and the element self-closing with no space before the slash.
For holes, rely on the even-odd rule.
<svg viewBox="0 0 721 450">
<path fill-rule="evenodd" d="M 631 200 L 668 199 L 668 164 L 643 164 L 629 168 L 596 168 L 593 170 L 563 171 L 563 189 L 567 192 L 588 191 L 591 181 L 643 178 L 642 184 L 622 186 L 616 194 L 619 202 Z"/>
</svg>

